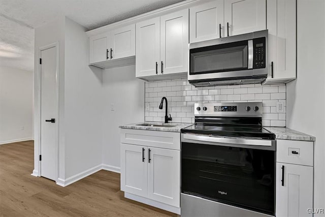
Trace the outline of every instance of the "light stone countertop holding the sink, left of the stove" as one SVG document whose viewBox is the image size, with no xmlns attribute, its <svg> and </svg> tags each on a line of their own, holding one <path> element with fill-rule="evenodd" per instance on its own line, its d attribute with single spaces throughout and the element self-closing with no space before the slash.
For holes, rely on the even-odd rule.
<svg viewBox="0 0 325 217">
<path fill-rule="evenodd" d="M 164 125 L 164 126 L 173 126 L 175 127 L 153 127 L 153 126 L 139 126 L 141 124 L 149 124 L 149 125 Z M 131 123 L 129 125 L 120 125 L 119 128 L 122 129 L 134 129 L 134 130 L 151 130 L 151 131 L 166 131 L 166 132 L 181 132 L 181 129 L 187 128 L 194 123 L 164 123 L 164 122 L 140 122 L 140 123 Z"/>
</svg>

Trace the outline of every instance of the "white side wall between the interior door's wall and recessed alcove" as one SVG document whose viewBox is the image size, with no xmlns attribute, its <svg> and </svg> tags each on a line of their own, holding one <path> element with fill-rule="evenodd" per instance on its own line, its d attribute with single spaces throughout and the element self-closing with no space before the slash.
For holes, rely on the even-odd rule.
<svg viewBox="0 0 325 217">
<path fill-rule="evenodd" d="M 102 70 L 89 67 L 85 28 L 66 18 L 64 134 L 66 178 L 102 164 Z"/>
</svg>

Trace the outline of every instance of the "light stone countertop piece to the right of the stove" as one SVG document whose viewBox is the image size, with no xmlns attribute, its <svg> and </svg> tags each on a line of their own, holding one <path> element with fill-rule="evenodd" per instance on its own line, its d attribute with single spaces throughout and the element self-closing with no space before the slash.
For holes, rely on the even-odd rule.
<svg viewBox="0 0 325 217">
<path fill-rule="evenodd" d="M 287 140 L 301 140 L 301 141 L 315 141 L 316 137 L 301 133 L 299 131 L 291 130 L 289 128 L 281 127 L 263 127 L 264 129 L 275 134 L 276 139 L 287 139 Z"/>
</svg>

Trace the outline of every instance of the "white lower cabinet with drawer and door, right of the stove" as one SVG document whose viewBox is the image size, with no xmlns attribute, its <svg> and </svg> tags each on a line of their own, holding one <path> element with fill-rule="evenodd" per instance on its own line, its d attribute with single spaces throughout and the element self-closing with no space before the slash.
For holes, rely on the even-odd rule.
<svg viewBox="0 0 325 217">
<path fill-rule="evenodd" d="M 313 142 L 277 140 L 275 215 L 312 216 Z"/>
</svg>

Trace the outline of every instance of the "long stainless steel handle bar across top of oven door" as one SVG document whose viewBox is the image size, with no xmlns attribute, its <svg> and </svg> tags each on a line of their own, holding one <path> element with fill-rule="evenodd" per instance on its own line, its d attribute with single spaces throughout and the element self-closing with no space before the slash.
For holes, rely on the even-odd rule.
<svg viewBox="0 0 325 217">
<path fill-rule="evenodd" d="M 201 136 L 201 135 L 192 135 L 192 134 L 183 134 L 183 138 L 188 140 L 227 143 L 227 144 L 272 146 L 272 140 L 263 140 L 263 139 L 223 138 L 223 137 Z"/>
</svg>

